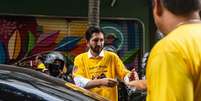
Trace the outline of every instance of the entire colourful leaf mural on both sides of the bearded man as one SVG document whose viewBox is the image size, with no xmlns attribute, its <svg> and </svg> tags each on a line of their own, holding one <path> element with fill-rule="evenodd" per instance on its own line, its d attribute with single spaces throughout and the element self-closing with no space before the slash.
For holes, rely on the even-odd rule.
<svg viewBox="0 0 201 101">
<path fill-rule="evenodd" d="M 86 19 L 0 17 L 0 63 L 14 64 L 35 54 L 60 51 L 67 57 L 85 52 Z M 138 66 L 142 54 L 143 24 L 137 20 L 101 20 L 106 35 L 127 66 Z"/>
</svg>

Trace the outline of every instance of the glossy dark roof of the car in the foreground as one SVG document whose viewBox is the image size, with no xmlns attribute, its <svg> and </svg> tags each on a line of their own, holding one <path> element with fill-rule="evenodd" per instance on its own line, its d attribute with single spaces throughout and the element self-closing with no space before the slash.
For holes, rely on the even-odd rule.
<svg viewBox="0 0 201 101">
<path fill-rule="evenodd" d="M 17 88 L 21 87 L 21 83 L 19 82 L 10 83 L 9 80 L 6 80 L 8 78 L 10 81 L 11 81 L 10 78 L 12 78 L 13 80 L 23 79 L 24 81 L 29 82 L 31 85 L 36 86 L 38 88 L 40 87 L 45 87 L 45 89 L 46 87 L 54 88 L 51 90 L 54 90 L 56 93 L 59 93 L 61 95 L 63 94 L 63 96 L 65 96 L 65 94 L 67 93 L 82 100 L 84 99 L 84 100 L 94 100 L 94 101 L 108 101 L 104 97 L 101 97 L 83 88 L 77 87 L 74 84 L 68 83 L 62 79 L 58 79 L 58 78 L 52 77 L 50 75 L 47 75 L 29 68 L 0 64 L 0 83 L 1 84 L 4 83 L 10 86 L 15 86 Z M 13 84 L 13 83 L 16 83 L 16 84 Z M 23 89 L 27 89 L 27 90 L 31 89 L 31 86 L 23 87 Z M 45 89 L 43 88 L 40 88 L 40 89 L 45 91 Z M 51 91 L 51 93 L 53 93 L 54 91 Z M 39 91 L 37 91 L 37 93 L 38 92 Z"/>
</svg>

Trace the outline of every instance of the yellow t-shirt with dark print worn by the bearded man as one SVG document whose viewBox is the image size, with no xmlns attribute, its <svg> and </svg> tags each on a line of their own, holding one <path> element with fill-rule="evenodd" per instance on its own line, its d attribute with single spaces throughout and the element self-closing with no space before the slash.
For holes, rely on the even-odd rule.
<svg viewBox="0 0 201 101">
<path fill-rule="evenodd" d="M 76 68 L 76 69 L 75 69 Z M 82 76 L 87 79 L 119 77 L 123 80 L 129 73 L 120 58 L 112 52 L 104 51 L 103 57 L 89 58 L 87 52 L 78 55 L 74 61 L 73 76 Z M 104 96 L 111 101 L 117 101 L 117 87 L 97 87 L 90 91 Z"/>
</svg>

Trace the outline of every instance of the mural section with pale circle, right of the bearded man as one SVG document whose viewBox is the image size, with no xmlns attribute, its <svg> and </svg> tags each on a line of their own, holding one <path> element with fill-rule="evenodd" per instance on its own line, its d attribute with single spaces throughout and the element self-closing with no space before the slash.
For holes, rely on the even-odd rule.
<svg viewBox="0 0 201 101">
<path fill-rule="evenodd" d="M 105 32 L 105 46 L 109 43 L 111 47 L 111 36 L 113 36 L 112 46 L 124 64 L 130 70 L 132 68 L 137 70 L 142 54 L 142 24 L 137 20 L 104 20 L 101 27 Z"/>
</svg>

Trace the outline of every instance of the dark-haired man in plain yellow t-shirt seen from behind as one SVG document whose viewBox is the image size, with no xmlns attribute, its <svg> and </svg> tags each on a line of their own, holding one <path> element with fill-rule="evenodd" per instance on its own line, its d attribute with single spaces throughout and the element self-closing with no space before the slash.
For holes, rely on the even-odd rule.
<svg viewBox="0 0 201 101">
<path fill-rule="evenodd" d="M 153 0 L 154 20 L 166 34 L 152 49 L 147 101 L 201 101 L 200 0 Z"/>
</svg>

